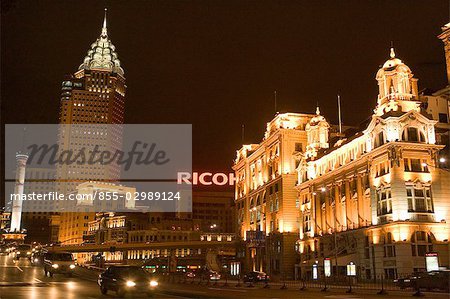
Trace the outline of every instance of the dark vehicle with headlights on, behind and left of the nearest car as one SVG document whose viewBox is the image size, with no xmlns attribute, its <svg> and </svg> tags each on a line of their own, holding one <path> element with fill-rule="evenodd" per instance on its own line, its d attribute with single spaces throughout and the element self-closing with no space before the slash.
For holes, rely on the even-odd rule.
<svg viewBox="0 0 450 299">
<path fill-rule="evenodd" d="M 75 260 L 70 252 L 47 252 L 44 254 L 45 276 L 53 277 L 54 274 L 72 276 L 75 268 Z"/>
</svg>

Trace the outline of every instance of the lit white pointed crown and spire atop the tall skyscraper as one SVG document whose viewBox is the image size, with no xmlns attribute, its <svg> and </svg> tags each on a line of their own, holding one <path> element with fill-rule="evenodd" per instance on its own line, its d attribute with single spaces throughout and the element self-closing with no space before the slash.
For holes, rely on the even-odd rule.
<svg viewBox="0 0 450 299">
<path fill-rule="evenodd" d="M 106 28 L 106 9 L 105 19 L 103 20 L 102 33 L 97 40 L 92 43 L 83 63 L 78 68 L 79 70 L 106 70 L 118 73 L 123 76 L 124 71 L 120 66 L 120 60 L 116 53 L 116 47 L 108 38 L 108 30 Z"/>
</svg>

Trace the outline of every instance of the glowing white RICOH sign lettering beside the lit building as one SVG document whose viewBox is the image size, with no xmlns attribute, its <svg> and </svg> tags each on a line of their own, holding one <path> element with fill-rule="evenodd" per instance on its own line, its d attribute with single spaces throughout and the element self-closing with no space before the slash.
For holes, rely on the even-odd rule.
<svg viewBox="0 0 450 299">
<path fill-rule="evenodd" d="M 232 186 L 235 181 L 234 173 L 178 172 L 177 174 L 178 185 Z"/>
</svg>

